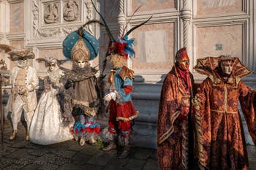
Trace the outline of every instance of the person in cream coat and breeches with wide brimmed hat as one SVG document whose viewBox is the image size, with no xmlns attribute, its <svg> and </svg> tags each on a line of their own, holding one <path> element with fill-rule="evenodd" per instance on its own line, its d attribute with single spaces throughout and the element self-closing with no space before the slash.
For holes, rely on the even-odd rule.
<svg viewBox="0 0 256 170">
<path fill-rule="evenodd" d="M 11 71 L 12 90 L 7 103 L 9 111 L 12 112 L 13 131 L 10 140 L 16 137 L 18 122 L 23 111 L 26 120 L 26 140 L 29 140 L 29 126 L 34 109 L 37 107 L 35 90 L 38 85 L 37 71 L 29 66 L 29 59 L 34 58 L 34 53 L 31 50 L 21 50 L 11 51 L 9 54 L 12 61 L 18 61 L 18 66 Z"/>
</svg>

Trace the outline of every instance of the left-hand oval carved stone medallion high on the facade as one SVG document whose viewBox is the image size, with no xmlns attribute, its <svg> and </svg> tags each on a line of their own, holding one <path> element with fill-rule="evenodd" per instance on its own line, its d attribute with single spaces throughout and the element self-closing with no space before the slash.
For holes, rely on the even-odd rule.
<svg viewBox="0 0 256 170">
<path fill-rule="evenodd" d="M 56 23 L 59 20 L 59 9 L 55 3 L 45 5 L 44 19 L 45 23 Z"/>
</svg>

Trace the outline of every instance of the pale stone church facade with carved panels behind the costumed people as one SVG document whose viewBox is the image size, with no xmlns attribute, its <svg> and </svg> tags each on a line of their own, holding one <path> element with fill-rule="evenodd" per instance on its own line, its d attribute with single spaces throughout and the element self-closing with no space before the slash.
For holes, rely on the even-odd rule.
<svg viewBox="0 0 256 170">
<path fill-rule="evenodd" d="M 135 71 L 133 101 L 140 116 L 134 125 L 133 142 L 137 146 L 157 146 L 157 112 L 162 81 L 174 63 L 174 55 L 187 47 L 191 60 L 190 71 L 196 82 L 205 77 L 192 69 L 197 58 L 231 55 L 239 58 L 249 69 L 256 71 L 256 2 L 254 0 L 93 0 L 115 36 L 127 20 L 132 28 L 153 16 L 146 25 L 130 37 L 136 39 L 134 60 L 128 67 Z M 0 0 L 0 43 L 16 48 L 29 48 L 36 58 L 63 59 L 62 41 L 88 20 L 99 20 L 91 0 Z M 99 57 L 92 66 L 102 70 L 108 34 L 98 24 L 86 29 L 99 39 Z M 0 53 L 10 70 L 15 63 Z M 32 61 L 38 75 L 44 75 L 42 63 Z M 64 67 L 69 69 L 70 63 Z M 110 71 L 107 64 L 105 74 Z M 256 88 L 256 74 L 244 79 Z M 10 87 L 4 86 L 8 93 Z M 39 88 L 40 90 L 40 88 Z M 99 117 L 106 123 L 104 113 Z M 248 135 L 247 135 L 248 136 Z M 251 142 L 248 136 L 247 142 Z"/>
</svg>

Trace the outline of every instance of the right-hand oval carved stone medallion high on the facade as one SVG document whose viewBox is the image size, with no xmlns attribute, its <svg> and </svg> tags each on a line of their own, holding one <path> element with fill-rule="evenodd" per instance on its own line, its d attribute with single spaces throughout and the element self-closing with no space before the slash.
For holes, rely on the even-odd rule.
<svg viewBox="0 0 256 170">
<path fill-rule="evenodd" d="M 78 19 L 79 6 L 76 1 L 69 0 L 64 6 L 63 18 L 66 21 L 74 21 Z"/>
</svg>

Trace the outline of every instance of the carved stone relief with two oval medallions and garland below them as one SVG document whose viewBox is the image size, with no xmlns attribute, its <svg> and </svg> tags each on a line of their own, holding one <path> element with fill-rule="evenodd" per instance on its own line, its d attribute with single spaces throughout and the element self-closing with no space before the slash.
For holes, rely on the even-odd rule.
<svg viewBox="0 0 256 170">
<path fill-rule="evenodd" d="M 59 4 L 60 3 L 60 4 Z M 61 3 L 63 3 L 61 9 Z M 41 12 L 42 9 L 40 6 L 43 5 L 44 12 Z M 72 31 L 75 31 L 78 28 L 78 25 L 64 25 L 67 23 L 72 23 L 72 21 L 78 20 L 92 20 L 94 18 L 93 15 L 93 7 L 91 1 L 85 1 L 85 10 L 86 18 L 80 18 L 80 3 L 78 1 L 49 1 L 42 3 L 39 0 L 34 0 L 31 12 L 33 13 L 32 24 L 32 39 L 45 39 L 45 38 L 54 38 L 54 37 L 64 37 L 67 36 Z M 42 14 L 43 16 L 40 16 Z M 64 20 L 60 20 L 60 18 L 64 18 Z M 39 23 L 43 23 L 42 26 Z M 51 23 L 59 23 L 59 26 L 53 25 L 51 28 Z M 83 22 L 81 22 L 81 25 Z M 44 28 L 44 26 L 48 26 L 48 28 Z M 92 26 L 88 26 L 88 30 L 91 34 L 94 34 L 94 28 Z"/>
</svg>

